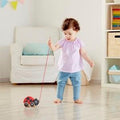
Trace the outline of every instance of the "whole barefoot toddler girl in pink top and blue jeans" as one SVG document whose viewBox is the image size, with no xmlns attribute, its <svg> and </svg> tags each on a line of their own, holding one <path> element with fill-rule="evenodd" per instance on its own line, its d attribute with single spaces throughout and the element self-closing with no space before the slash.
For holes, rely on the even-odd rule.
<svg viewBox="0 0 120 120">
<path fill-rule="evenodd" d="M 61 55 L 58 61 L 57 99 L 54 102 L 62 102 L 64 88 L 68 78 L 70 78 L 73 85 L 74 102 L 82 104 L 80 100 L 80 71 L 83 68 L 82 58 L 84 58 L 91 67 L 94 66 L 94 63 L 88 57 L 83 42 L 77 37 L 77 33 L 80 30 L 78 21 L 74 18 L 65 19 L 62 30 L 65 35 L 63 39 L 55 45 L 53 45 L 51 40 L 48 41 L 48 45 L 53 51 L 61 49 Z"/>
</svg>

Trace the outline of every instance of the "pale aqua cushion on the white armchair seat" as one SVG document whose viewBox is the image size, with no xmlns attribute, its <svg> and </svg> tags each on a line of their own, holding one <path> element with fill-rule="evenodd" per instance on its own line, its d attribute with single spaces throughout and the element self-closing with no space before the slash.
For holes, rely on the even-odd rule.
<svg viewBox="0 0 120 120">
<path fill-rule="evenodd" d="M 49 49 L 48 45 L 45 43 L 28 43 L 24 48 L 22 55 L 53 55 L 53 52 Z"/>
</svg>

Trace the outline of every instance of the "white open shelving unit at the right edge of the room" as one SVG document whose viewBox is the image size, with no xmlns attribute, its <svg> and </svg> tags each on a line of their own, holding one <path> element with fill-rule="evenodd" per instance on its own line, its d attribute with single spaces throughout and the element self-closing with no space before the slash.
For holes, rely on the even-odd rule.
<svg viewBox="0 0 120 120">
<path fill-rule="evenodd" d="M 116 9 L 116 6 L 120 8 L 120 0 L 102 0 L 102 87 L 120 88 L 120 84 L 114 84 L 109 81 L 108 75 L 108 70 L 112 65 L 120 66 L 120 56 L 108 55 L 108 34 L 120 32 L 120 28 L 113 28 L 113 25 L 116 25 L 113 21 L 113 8 Z"/>
</svg>

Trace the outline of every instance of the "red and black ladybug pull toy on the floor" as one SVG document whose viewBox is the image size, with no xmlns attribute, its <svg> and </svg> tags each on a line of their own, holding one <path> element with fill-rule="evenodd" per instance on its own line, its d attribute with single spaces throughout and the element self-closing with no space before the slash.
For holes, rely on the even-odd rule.
<svg viewBox="0 0 120 120">
<path fill-rule="evenodd" d="M 37 98 L 33 98 L 33 97 L 31 97 L 31 96 L 27 96 L 25 99 L 24 99 L 24 101 L 23 101 L 23 103 L 24 103 L 24 106 L 25 107 L 34 107 L 34 106 L 37 106 L 38 104 L 39 104 L 39 100 L 37 99 Z"/>
</svg>

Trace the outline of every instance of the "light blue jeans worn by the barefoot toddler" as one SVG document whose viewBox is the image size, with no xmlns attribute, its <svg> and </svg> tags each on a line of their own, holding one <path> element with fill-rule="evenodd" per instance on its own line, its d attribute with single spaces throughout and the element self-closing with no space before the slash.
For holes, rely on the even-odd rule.
<svg viewBox="0 0 120 120">
<path fill-rule="evenodd" d="M 73 85 L 73 99 L 78 100 L 80 98 L 80 86 L 81 86 L 81 73 L 74 72 L 59 72 L 57 81 L 57 98 L 63 100 L 64 88 L 67 83 L 68 78 L 70 78 Z"/>
</svg>

